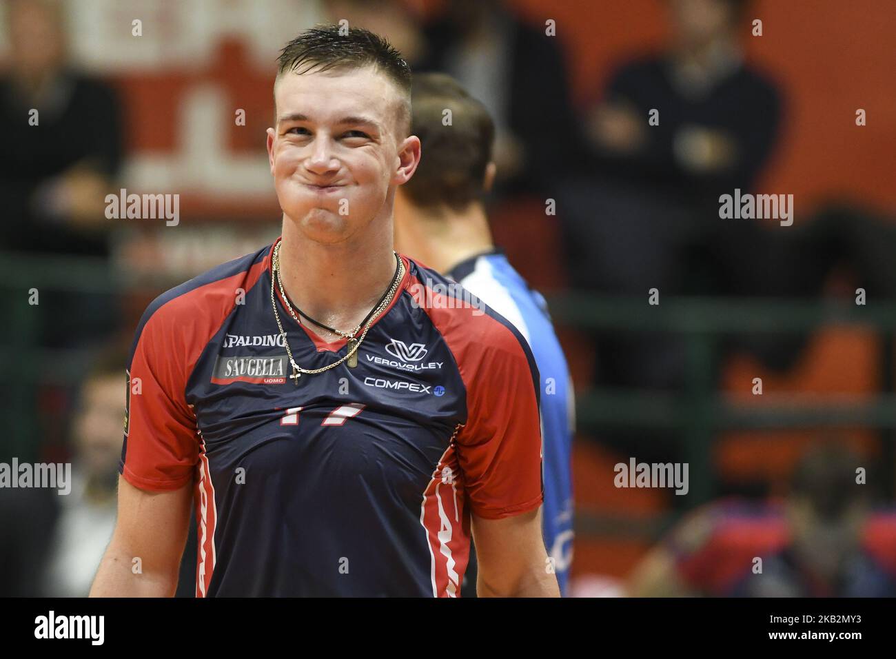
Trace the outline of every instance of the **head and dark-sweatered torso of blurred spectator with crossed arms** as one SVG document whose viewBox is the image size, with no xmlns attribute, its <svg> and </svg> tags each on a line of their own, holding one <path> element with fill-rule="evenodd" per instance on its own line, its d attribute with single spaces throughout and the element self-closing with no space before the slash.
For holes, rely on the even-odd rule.
<svg viewBox="0 0 896 659">
<path fill-rule="evenodd" d="M 669 0 L 673 38 L 623 65 L 586 122 L 602 175 L 694 207 L 749 189 L 780 124 L 773 82 L 745 65 L 744 0 Z M 649 124 L 656 110 L 656 125 Z"/>
</svg>

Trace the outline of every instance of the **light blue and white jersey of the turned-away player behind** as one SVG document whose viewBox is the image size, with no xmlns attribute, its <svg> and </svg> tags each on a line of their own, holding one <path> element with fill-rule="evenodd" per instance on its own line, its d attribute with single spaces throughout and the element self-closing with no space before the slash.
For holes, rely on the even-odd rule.
<svg viewBox="0 0 896 659">
<path fill-rule="evenodd" d="M 541 375 L 541 439 L 545 502 L 542 523 L 560 592 L 573 560 L 573 382 L 544 297 L 507 261 L 500 248 L 472 256 L 447 273 L 495 309 L 529 342 Z"/>
</svg>

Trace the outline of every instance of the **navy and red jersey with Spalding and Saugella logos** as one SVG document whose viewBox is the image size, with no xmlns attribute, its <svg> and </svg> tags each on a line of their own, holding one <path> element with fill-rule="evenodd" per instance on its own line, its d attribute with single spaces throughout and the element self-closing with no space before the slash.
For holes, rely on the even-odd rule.
<svg viewBox="0 0 896 659">
<path fill-rule="evenodd" d="M 142 490 L 194 484 L 197 596 L 459 595 L 470 514 L 543 500 L 528 344 L 401 255 L 406 273 L 357 366 L 290 378 L 272 247 L 147 308 L 119 471 Z M 275 299 L 299 366 L 346 354 Z"/>
</svg>

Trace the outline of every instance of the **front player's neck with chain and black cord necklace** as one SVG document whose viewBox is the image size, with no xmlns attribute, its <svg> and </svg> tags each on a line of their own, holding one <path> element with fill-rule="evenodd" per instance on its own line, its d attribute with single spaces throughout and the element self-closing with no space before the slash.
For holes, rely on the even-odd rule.
<svg viewBox="0 0 896 659">
<path fill-rule="evenodd" d="M 284 217 L 280 278 L 294 306 L 334 329 L 348 332 L 373 309 L 392 283 L 396 260 L 391 222 L 377 222 L 364 238 L 323 244 L 308 239 Z M 377 234 L 377 235 L 372 235 Z M 338 337 L 302 320 L 315 334 Z"/>
</svg>

